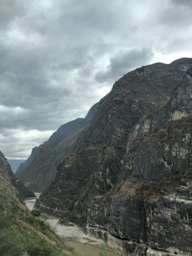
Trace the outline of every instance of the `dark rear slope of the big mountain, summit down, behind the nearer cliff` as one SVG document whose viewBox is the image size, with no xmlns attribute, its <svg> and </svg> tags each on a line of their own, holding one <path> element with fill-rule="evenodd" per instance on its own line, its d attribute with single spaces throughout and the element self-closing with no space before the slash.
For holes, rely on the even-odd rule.
<svg viewBox="0 0 192 256">
<path fill-rule="evenodd" d="M 90 127 L 60 164 L 37 207 L 48 213 L 65 210 L 87 215 L 90 198 L 113 190 L 122 178 L 130 134 L 140 120 L 164 107 L 181 82 L 191 59 L 156 63 L 134 70 L 114 83 L 97 107 Z"/>
</svg>

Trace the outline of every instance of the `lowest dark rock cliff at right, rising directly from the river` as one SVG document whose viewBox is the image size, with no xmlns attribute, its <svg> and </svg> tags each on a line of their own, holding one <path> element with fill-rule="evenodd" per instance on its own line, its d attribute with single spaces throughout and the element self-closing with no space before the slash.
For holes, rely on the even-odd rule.
<svg viewBox="0 0 192 256">
<path fill-rule="evenodd" d="M 149 182 L 129 178 L 92 199 L 87 231 L 123 255 L 191 255 L 192 172 Z"/>
</svg>

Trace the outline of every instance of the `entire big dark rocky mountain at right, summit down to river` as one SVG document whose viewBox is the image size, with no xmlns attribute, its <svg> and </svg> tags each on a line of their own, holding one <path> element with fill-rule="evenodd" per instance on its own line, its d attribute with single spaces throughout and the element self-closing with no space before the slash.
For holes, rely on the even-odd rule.
<svg viewBox="0 0 192 256">
<path fill-rule="evenodd" d="M 137 255 L 191 255 L 191 58 L 127 73 L 36 203 Z"/>
</svg>

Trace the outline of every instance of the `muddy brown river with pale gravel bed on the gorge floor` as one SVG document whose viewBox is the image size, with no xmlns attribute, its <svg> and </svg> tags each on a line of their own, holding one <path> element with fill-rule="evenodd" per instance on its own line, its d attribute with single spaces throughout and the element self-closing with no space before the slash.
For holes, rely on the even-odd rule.
<svg viewBox="0 0 192 256">
<path fill-rule="evenodd" d="M 36 198 L 39 195 L 39 193 L 36 193 Z M 36 198 L 25 201 L 29 210 L 33 210 Z M 77 225 L 60 225 L 57 218 L 46 218 L 46 223 L 56 235 L 65 241 L 66 245 L 74 247 L 75 251 L 81 256 L 98 256 L 100 247 L 105 247 L 105 243 L 102 240 L 86 235 L 82 228 L 78 228 Z"/>
</svg>

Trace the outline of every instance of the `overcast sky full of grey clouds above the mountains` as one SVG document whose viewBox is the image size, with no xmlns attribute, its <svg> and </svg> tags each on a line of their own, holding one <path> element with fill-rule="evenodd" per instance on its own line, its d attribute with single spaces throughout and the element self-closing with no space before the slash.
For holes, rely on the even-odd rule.
<svg viewBox="0 0 192 256">
<path fill-rule="evenodd" d="M 191 0 L 0 0 L 0 150 L 28 158 L 122 75 L 191 46 Z"/>
</svg>

